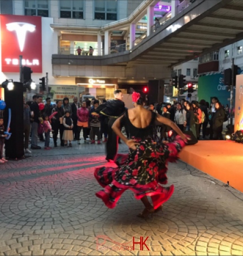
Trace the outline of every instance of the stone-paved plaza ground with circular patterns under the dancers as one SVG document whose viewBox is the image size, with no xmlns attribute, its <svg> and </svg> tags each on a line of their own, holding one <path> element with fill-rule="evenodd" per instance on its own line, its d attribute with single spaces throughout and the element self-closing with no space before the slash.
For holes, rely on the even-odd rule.
<svg viewBox="0 0 243 256">
<path fill-rule="evenodd" d="M 105 164 L 104 150 L 74 142 L 1 164 L 0 256 L 243 255 L 241 193 L 179 162 L 169 166 L 175 193 L 162 212 L 137 218 L 144 207 L 130 191 L 110 210 L 94 195 L 101 187 L 93 171 Z M 97 247 L 131 246 L 140 236 L 149 237 L 149 251 Z"/>
</svg>

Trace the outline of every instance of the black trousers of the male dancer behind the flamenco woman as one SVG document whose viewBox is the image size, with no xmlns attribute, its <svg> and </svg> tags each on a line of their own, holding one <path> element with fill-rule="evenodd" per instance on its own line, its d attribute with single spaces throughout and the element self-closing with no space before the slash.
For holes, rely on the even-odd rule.
<svg viewBox="0 0 243 256">
<path fill-rule="evenodd" d="M 113 132 L 112 125 L 115 122 L 115 118 L 110 118 L 108 122 L 108 139 L 106 142 L 106 160 L 114 160 L 116 153 L 118 152 L 118 136 Z"/>
</svg>

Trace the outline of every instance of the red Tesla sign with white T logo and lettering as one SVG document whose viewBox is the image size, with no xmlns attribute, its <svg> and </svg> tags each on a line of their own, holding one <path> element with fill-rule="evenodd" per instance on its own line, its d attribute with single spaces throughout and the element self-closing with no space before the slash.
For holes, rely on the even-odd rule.
<svg viewBox="0 0 243 256">
<path fill-rule="evenodd" d="M 42 73 L 41 17 L 0 15 L 2 72 L 19 72 L 23 66 Z"/>
</svg>

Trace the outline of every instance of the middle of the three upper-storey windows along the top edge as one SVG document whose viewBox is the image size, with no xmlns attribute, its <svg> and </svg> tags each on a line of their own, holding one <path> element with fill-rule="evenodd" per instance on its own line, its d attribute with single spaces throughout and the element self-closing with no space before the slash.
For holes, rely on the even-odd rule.
<svg viewBox="0 0 243 256">
<path fill-rule="evenodd" d="M 84 19 L 84 0 L 60 0 L 60 18 Z"/>
</svg>

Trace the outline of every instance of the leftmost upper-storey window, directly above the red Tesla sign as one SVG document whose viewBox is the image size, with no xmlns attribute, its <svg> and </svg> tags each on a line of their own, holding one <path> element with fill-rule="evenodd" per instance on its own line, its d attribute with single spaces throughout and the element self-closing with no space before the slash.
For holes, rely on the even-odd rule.
<svg viewBox="0 0 243 256">
<path fill-rule="evenodd" d="M 24 15 L 49 17 L 49 0 L 25 0 Z"/>
</svg>

